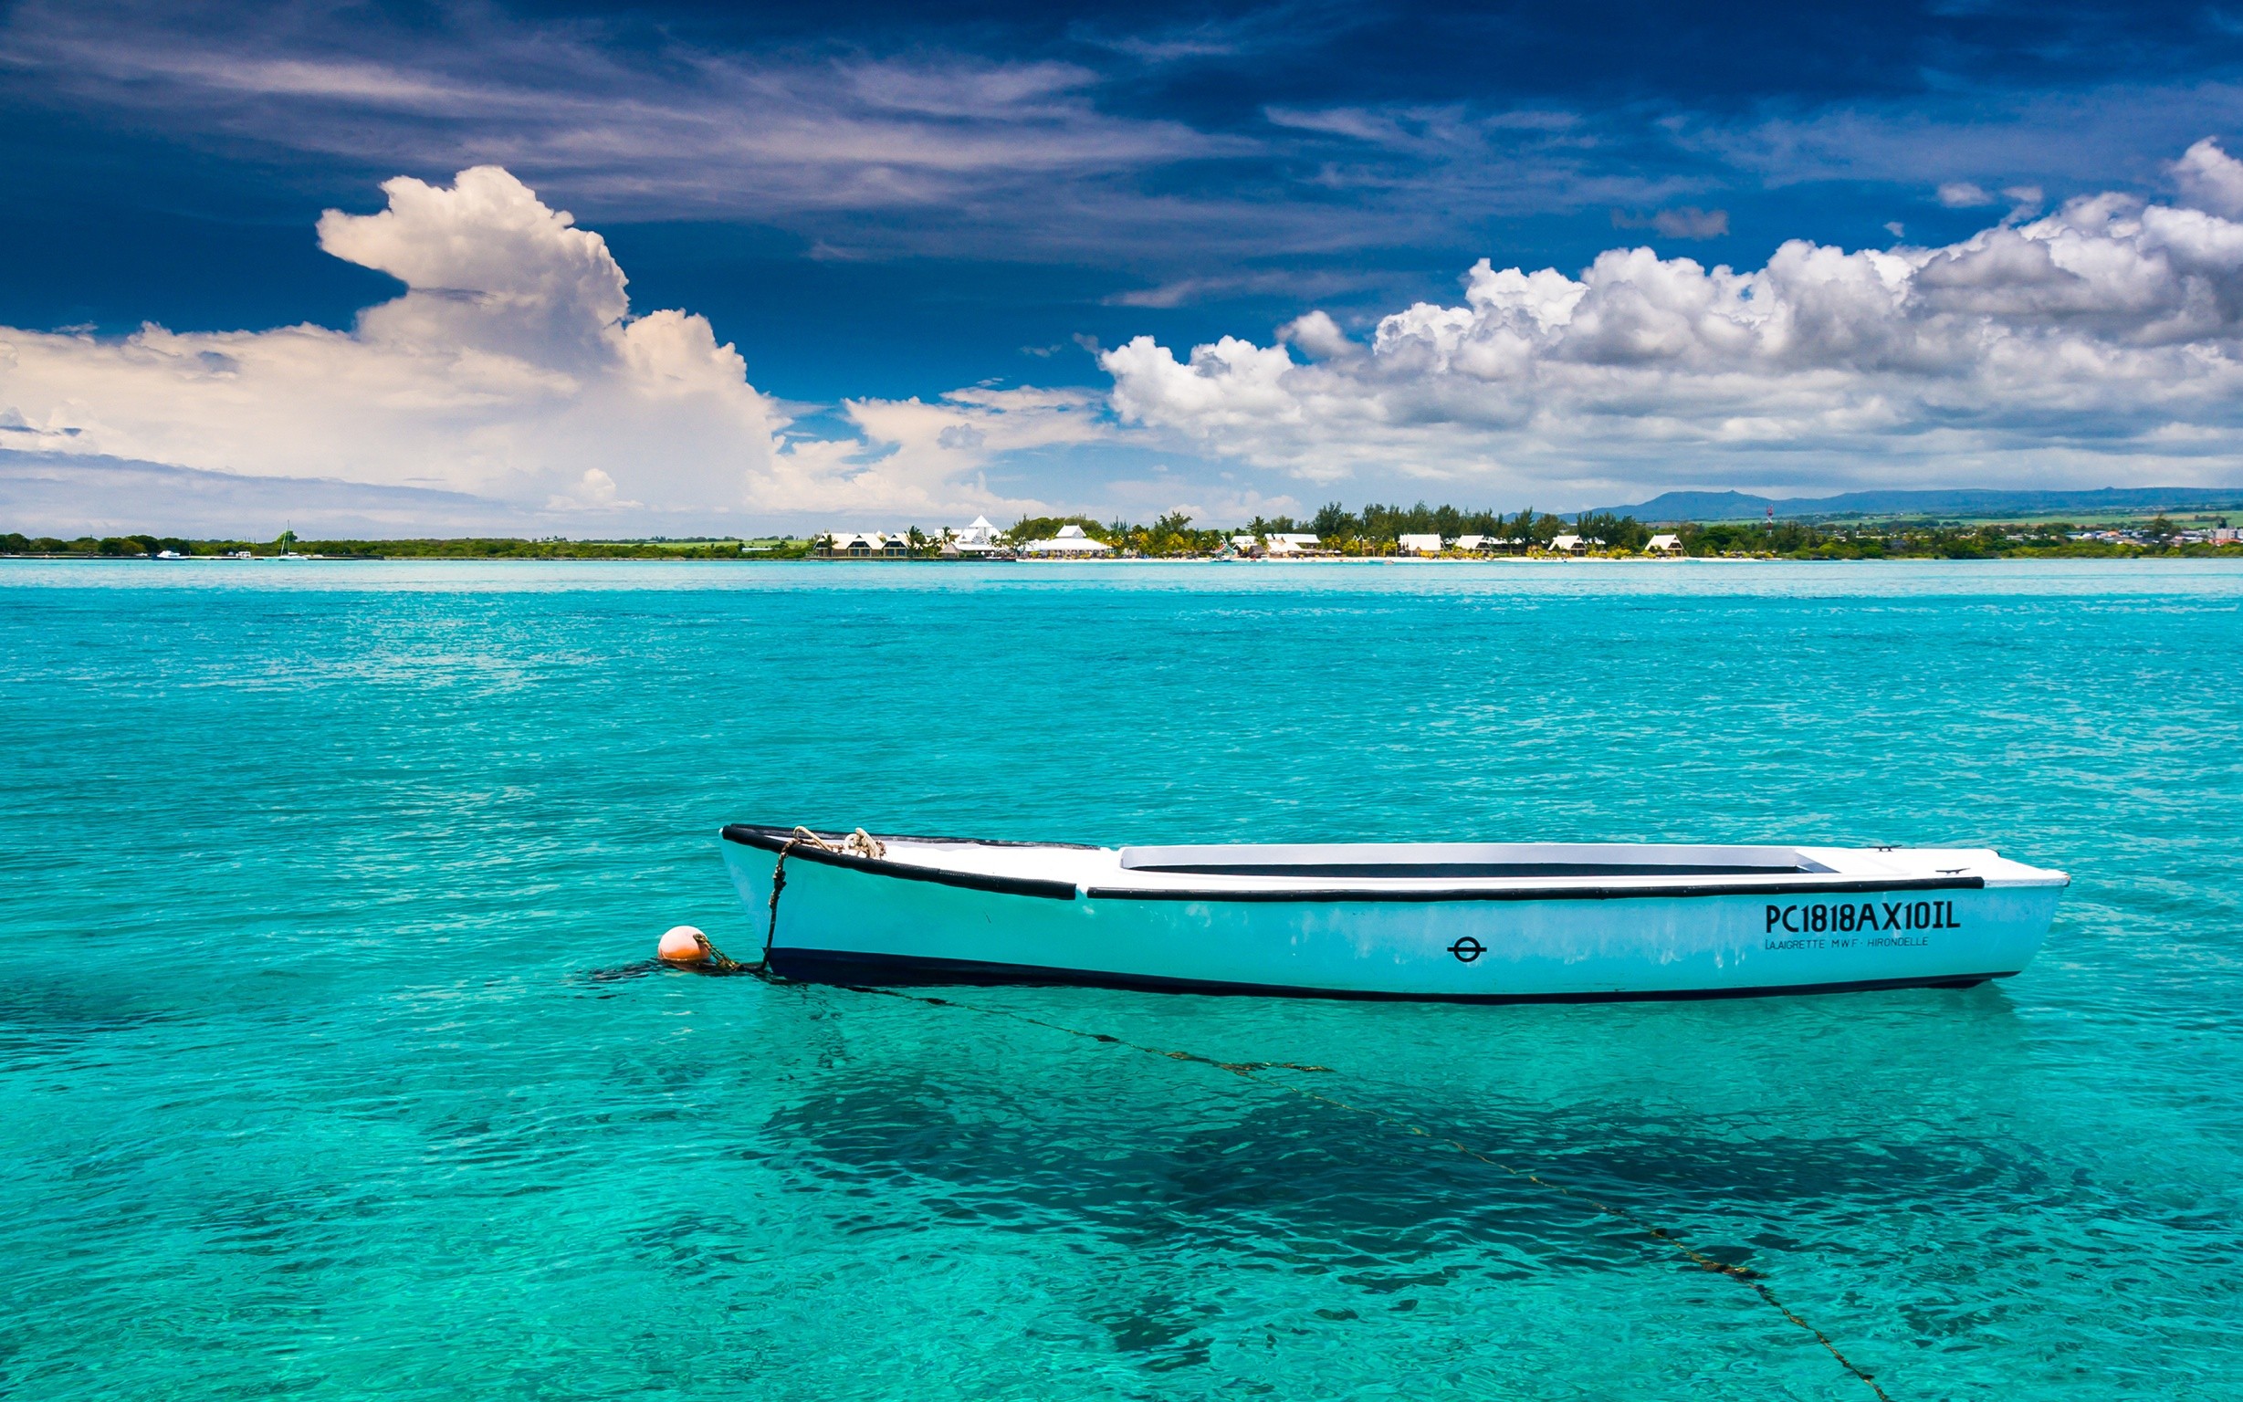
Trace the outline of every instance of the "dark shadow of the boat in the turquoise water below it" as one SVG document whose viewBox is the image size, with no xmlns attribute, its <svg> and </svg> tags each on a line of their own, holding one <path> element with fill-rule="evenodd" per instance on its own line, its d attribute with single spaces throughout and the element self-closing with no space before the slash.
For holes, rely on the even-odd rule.
<svg viewBox="0 0 2243 1402">
<path fill-rule="evenodd" d="M 763 1153 L 801 1191 L 852 1198 L 848 1214 L 866 1227 L 933 1214 L 996 1232 L 1072 1229 L 1126 1249 L 1339 1272 L 1373 1292 L 1458 1274 L 1682 1263 L 1640 1227 L 1552 1187 L 1263 1088 L 1240 1088 L 1243 1104 L 1218 1122 L 1196 1099 L 1193 1122 L 1162 1124 L 1110 1104 L 960 1095 L 908 1070 L 830 1081 L 765 1124 Z M 1913 1247 L 1880 1249 L 1875 1238 L 1889 1234 L 1875 1223 L 1927 1207 L 1958 1225 L 2014 1223 L 2021 1205 L 2082 1216 L 2111 1207 L 2079 1175 L 1987 1140 L 1738 1140 L 1628 1113 L 1388 1110 L 1745 1267 L 1826 1249 L 1904 1265 Z"/>
</svg>

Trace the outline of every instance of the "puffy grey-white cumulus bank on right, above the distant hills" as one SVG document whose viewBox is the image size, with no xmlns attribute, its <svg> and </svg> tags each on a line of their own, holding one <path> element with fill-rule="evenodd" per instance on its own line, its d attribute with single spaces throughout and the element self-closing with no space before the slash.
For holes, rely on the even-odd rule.
<svg viewBox="0 0 2243 1402">
<path fill-rule="evenodd" d="M 1368 348 L 1301 319 L 1276 345 L 1137 336 L 1101 366 L 1124 422 L 1308 480 L 2225 480 L 2243 222 L 2218 202 L 2243 164 L 2198 144 L 2182 184 L 2214 209 L 2097 195 L 1949 247 L 1792 240 L 1750 271 L 1480 260 L 1462 305 L 1393 312 Z"/>
</svg>

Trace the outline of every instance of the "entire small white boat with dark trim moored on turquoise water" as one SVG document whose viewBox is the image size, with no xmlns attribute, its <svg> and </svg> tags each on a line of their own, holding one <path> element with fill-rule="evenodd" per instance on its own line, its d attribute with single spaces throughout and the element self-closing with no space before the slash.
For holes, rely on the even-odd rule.
<svg viewBox="0 0 2243 1402">
<path fill-rule="evenodd" d="M 1969 987 L 2032 960 L 2070 884 L 1987 848 L 1092 848 L 747 823 L 722 846 L 783 978 L 1453 1003 Z"/>
</svg>

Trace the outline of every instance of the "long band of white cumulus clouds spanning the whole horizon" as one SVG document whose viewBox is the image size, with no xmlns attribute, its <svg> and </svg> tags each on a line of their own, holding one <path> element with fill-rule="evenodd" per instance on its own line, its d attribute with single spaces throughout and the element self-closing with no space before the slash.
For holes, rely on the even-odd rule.
<svg viewBox="0 0 2243 1402">
<path fill-rule="evenodd" d="M 1792 240 L 1752 271 L 1649 247 L 1579 276 L 1483 258 L 1462 305 L 1415 303 L 1368 336 L 1314 310 L 1267 343 L 1178 354 L 1142 334 L 1099 354 L 1104 386 L 848 397 L 843 431 L 812 435 L 704 316 L 633 314 L 599 233 L 476 166 L 321 218 L 327 253 L 406 287 L 350 330 L 0 328 L 0 449 L 52 489 L 52 520 L 16 529 L 70 529 L 74 509 L 119 518 L 135 505 L 110 500 L 117 460 L 271 482 L 274 500 L 348 482 L 368 511 L 424 494 L 410 511 L 428 529 L 572 534 L 1117 509 L 1144 500 L 1122 478 L 1148 453 L 1171 464 L 1162 505 L 1200 511 L 1397 482 L 1496 505 L 1794 480 L 2232 482 L 2243 162 L 2205 139 L 2169 175 L 2171 202 L 2021 204 L 1945 247 Z M 1110 480 L 1039 487 L 1054 453 L 1110 462 Z"/>
</svg>

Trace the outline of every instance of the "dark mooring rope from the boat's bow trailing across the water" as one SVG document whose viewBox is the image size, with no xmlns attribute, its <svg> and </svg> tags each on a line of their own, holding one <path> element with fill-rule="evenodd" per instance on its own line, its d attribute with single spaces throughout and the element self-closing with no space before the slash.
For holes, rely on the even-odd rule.
<svg viewBox="0 0 2243 1402">
<path fill-rule="evenodd" d="M 796 828 L 794 832 L 796 832 L 796 837 L 787 841 L 787 848 L 792 848 L 796 841 L 801 841 L 803 837 L 807 837 L 807 839 L 816 841 L 821 848 L 834 850 L 830 843 L 825 843 L 823 839 L 819 839 L 814 832 L 807 832 L 803 828 Z M 859 828 L 857 834 L 864 834 L 864 830 Z M 852 837 L 857 837 L 857 834 L 852 834 Z M 778 852 L 778 866 L 781 868 L 787 861 L 787 848 L 781 848 L 781 852 Z M 781 884 L 783 884 L 783 873 L 774 868 L 774 873 L 772 873 L 772 931 L 774 933 L 778 929 L 778 886 Z M 751 974 L 754 978 L 760 978 L 760 980 L 772 983 L 772 985 L 803 987 L 803 985 L 796 985 L 792 978 L 785 978 L 783 974 L 774 974 L 772 971 L 772 967 L 769 967 L 769 935 L 765 935 L 765 958 L 758 960 L 758 962 L 754 962 L 754 965 L 742 965 L 742 962 L 724 958 L 722 953 L 716 951 L 713 944 L 709 944 L 707 935 L 702 938 L 702 949 L 711 956 L 709 965 L 707 965 L 711 971 L 720 971 L 720 974 Z M 1045 1021 L 1045 1018 L 1039 1018 L 1039 1016 L 1032 1016 L 1032 1014 L 1025 1014 L 1025 1012 L 1014 1012 L 1009 1007 L 982 1007 L 978 1003 L 960 1003 L 956 998 L 938 998 L 933 994 L 906 994 L 904 989 L 884 989 L 884 987 L 857 985 L 857 983 L 837 983 L 837 985 L 828 985 L 828 987 L 848 989 L 852 994 L 873 994 L 873 996 L 879 996 L 879 998 L 902 998 L 904 1003 L 922 1003 L 926 1007 L 956 1007 L 960 1012 L 978 1012 L 978 1014 L 989 1016 L 989 1018 L 1012 1018 L 1016 1023 L 1027 1023 L 1032 1027 L 1043 1027 L 1047 1032 L 1061 1032 L 1065 1036 L 1079 1036 L 1083 1041 L 1095 1041 L 1095 1043 L 1110 1045 L 1110 1048 L 1126 1048 L 1130 1052 L 1144 1052 L 1146 1057 L 1162 1057 L 1166 1061 L 1191 1061 L 1196 1066 L 1211 1066 L 1216 1070 L 1227 1070 L 1227 1072 L 1231 1072 L 1234 1077 L 1238 1077 L 1243 1081 L 1254 1081 L 1256 1086 L 1265 1086 L 1270 1090 L 1283 1090 L 1287 1095 L 1299 1095 L 1301 1099 L 1310 1099 L 1310 1101 L 1330 1106 L 1335 1110 L 1346 1110 L 1350 1115 L 1362 1115 L 1366 1119 L 1384 1124 L 1386 1128 L 1397 1128 L 1397 1131 L 1404 1131 L 1404 1133 L 1415 1135 L 1420 1140 L 1431 1140 L 1433 1144 L 1440 1144 L 1444 1149 L 1453 1149 L 1456 1153 L 1462 1153 L 1469 1160 L 1478 1160 L 1478 1162 L 1487 1164 L 1489 1169 L 1498 1169 L 1498 1171 L 1507 1173 L 1510 1178 L 1516 1178 L 1521 1182 L 1532 1182 L 1539 1189 L 1557 1193 L 1557 1196 L 1561 1196 L 1561 1198 L 1566 1198 L 1570 1202 L 1579 1202 L 1581 1207 L 1588 1207 L 1590 1211 L 1597 1211 L 1597 1214 L 1602 1214 L 1606 1218 L 1613 1218 L 1615 1223 L 1626 1223 L 1635 1232 L 1642 1232 L 1644 1236 L 1658 1240 L 1660 1245 L 1678 1252 L 1684 1261 L 1689 1261 L 1698 1270 L 1707 1270 L 1707 1272 L 1727 1276 L 1727 1279 L 1736 1281 L 1738 1285 L 1745 1285 L 1747 1290 L 1752 1290 L 1754 1294 L 1759 1294 L 1761 1301 L 1767 1308 L 1776 1310 L 1779 1315 L 1783 1315 L 1790 1323 L 1799 1326 L 1801 1330 L 1815 1335 L 1815 1341 L 1821 1344 L 1824 1350 L 1833 1359 L 1837 1359 L 1837 1364 L 1842 1368 L 1846 1368 L 1848 1373 L 1853 1373 L 1855 1377 L 1859 1377 L 1862 1386 L 1866 1386 L 1871 1393 L 1877 1395 L 1877 1402 L 1893 1402 L 1886 1395 L 1886 1391 L 1882 1386 L 1877 1386 L 1877 1380 L 1871 1373 L 1866 1373 L 1859 1364 L 1855 1364 L 1850 1357 L 1846 1357 L 1844 1353 L 1839 1353 L 1839 1346 L 1830 1341 L 1830 1335 L 1821 1332 L 1819 1328 L 1815 1328 L 1812 1323 L 1808 1323 L 1806 1319 L 1801 1319 L 1797 1310 L 1792 1310 L 1788 1303 L 1783 1303 L 1781 1299 L 1776 1299 L 1776 1292 L 1767 1288 L 1765 1276 L 1761 1272 L 1752 1270 L 1750 1265 L 1736 1265 L 1736 1263 L 1709 1256 L 1709 1254 L 1700 1252 L 1698 1247 L 1689 1245 L 1687 1240 L 1682 1240 L 1680 1236 L 1676 1236 L 1673 1232 L 1669 1232 L 1667 1227 L 1660 1227 L 1658 1223 L 1651 1223 L 1651 1220 L 1637 1216 L 1635 1211 L 1631 1211 L 1626 1207 L 1615 1207 L 1610 1202 L 1604 1202 L 1602 1198 L 1590 1198 L 1588 1193 L 1584 1193 L 1579 1189 L 1570 1189 L 1563 1182 L 1550 1182 L 1548 1178 L 1543 1178 L 1541 1173 L 1534 1173 L 1532 1169 L 1521 1169 L 1521 1166 L 1507 1164 L 1507 1162 L 1503 1162 L 1503 1160 L 1498 1160 L 1498 1157 L 1494 1157 L 1489 1153 L 1480 1153 L 1478 1149 L 1465 1144 L 1462 1140 L 1453 1140 L 1449 1135 L 1440 1135 L 1436 1131 L 1422 1128 L 1418 1124 L 1411 1124 L 1406 1119 L 1400 1119 L 1400 1117 L 1388 1115 L 1386 1110 L 1379 1110 L 1379 1108 L 1373 1108 L 1373 1106 L 1357 1106 L 1353 1101 L 1339 1099 L 1337 1095 L 1323 1095 L 1321 1090 L 1310 1090 L 1305 1086 L 1294 1086 L 1292 1081 L 1272 1081 L 1272 1079 L 1267 1079 L 1267 1077 L 1261 1074 L 1261 1072 L 1270 1072 L 1270 1070 L 1296 1070 L 1296 1072 L 1337 1074 L 1337 1072 L 1332 1072 L 1330 1066 L 1312 1066 L 1312 1063 L 1301 1063 L 1301 1061 L 1222 1061 L 1218 1057 L 1202 1057 L 1200 1052 L 1178 1052 L 1178 1050 L 1169 1050 L 1169 1048 L 1151 1048 L 1151 1045 L 1144 1045 L 1144 1043 L 1137 1043 L 1137 1041 L 1128 1041 L 1126 1036 L 1113 1036 L 1110 1032 L 1086 1032 L 1081 1027 L 1068 1027 L 1065 1023 L 1052 1023 L 1052 1021 Z"/>
</svg>

